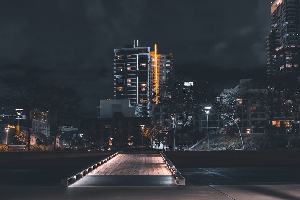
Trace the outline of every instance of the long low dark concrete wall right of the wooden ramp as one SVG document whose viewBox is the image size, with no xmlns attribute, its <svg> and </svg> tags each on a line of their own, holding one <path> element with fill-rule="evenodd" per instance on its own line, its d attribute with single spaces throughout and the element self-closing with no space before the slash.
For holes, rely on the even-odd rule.
<svg viewBox="0 0 300 200">
<path fill-rule="evenodd" d="M 164 151 L 176 167 L 300 166 L 300 150 Z"/>
</svg>

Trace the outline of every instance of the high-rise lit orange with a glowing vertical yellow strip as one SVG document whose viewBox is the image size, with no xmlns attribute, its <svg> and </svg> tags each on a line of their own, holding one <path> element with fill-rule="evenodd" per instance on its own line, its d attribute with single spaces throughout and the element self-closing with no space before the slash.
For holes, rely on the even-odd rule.
<svg viewBox="0 0 300 200">
<path fill-rule="evenodd" d="M 155 44 L 151 52 L 151 86 L 154 103 L 158 103 L 159 88 L 165 80 L 173 76 L 173 55 L 157 54 Z"/>
</svg>

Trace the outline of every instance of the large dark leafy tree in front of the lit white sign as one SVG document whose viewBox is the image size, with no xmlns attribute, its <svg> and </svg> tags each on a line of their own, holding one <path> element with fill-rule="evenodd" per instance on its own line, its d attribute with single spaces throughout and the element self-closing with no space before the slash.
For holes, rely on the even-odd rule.
<svg viewBox="0 0 300 200">
<path fill-rule="evenodd" d="M 184 85 L 184 82 L 193 82 L 193 84 Z M 183 131 L 186 131 L 191 127 L 191 116 L 199 112 L 199 106 L 212 102 L 214 97 L 214 90 L 207 83 L 198 83 L 184 78 L 168 79 L 165 84 L 161 85 L 158 106 L 165 107 L 170 114 L 176 115 L 174 130 L 176 130 L 177 122 L 180 121 Z M 175 137 L 174 131 L 172 150 L 175 149 Z"/>
</svg>

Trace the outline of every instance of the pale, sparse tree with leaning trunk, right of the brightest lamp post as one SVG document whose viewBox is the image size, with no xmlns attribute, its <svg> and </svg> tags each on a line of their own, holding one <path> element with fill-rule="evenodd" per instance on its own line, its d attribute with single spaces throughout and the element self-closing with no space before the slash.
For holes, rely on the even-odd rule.
<svg viewBox="0 0 300 200">
<path fill-rule="evenodd" d="M 238 132 L 241 136 L 242 146 L 243 150 L 245 150 L 244 147 L 244 141 L 243 137 L 241 135 L 241 129 L 238 125 L 238 123 L 241 121 L 240 118 L 236 117 L 236 107 L 241 105 L 241 97 L 242 97 L 242 91 L 238 88 L 232 88 L 230 90 L 227 90 L 225 93 L 222 93 L 219 97 L 217 97 L 217 103 L 219 103 L 219 114 L 223 120 L 226 121 L 226 126 L 229 124 L 235 124 L 238 127 Z"/>
</svg>

